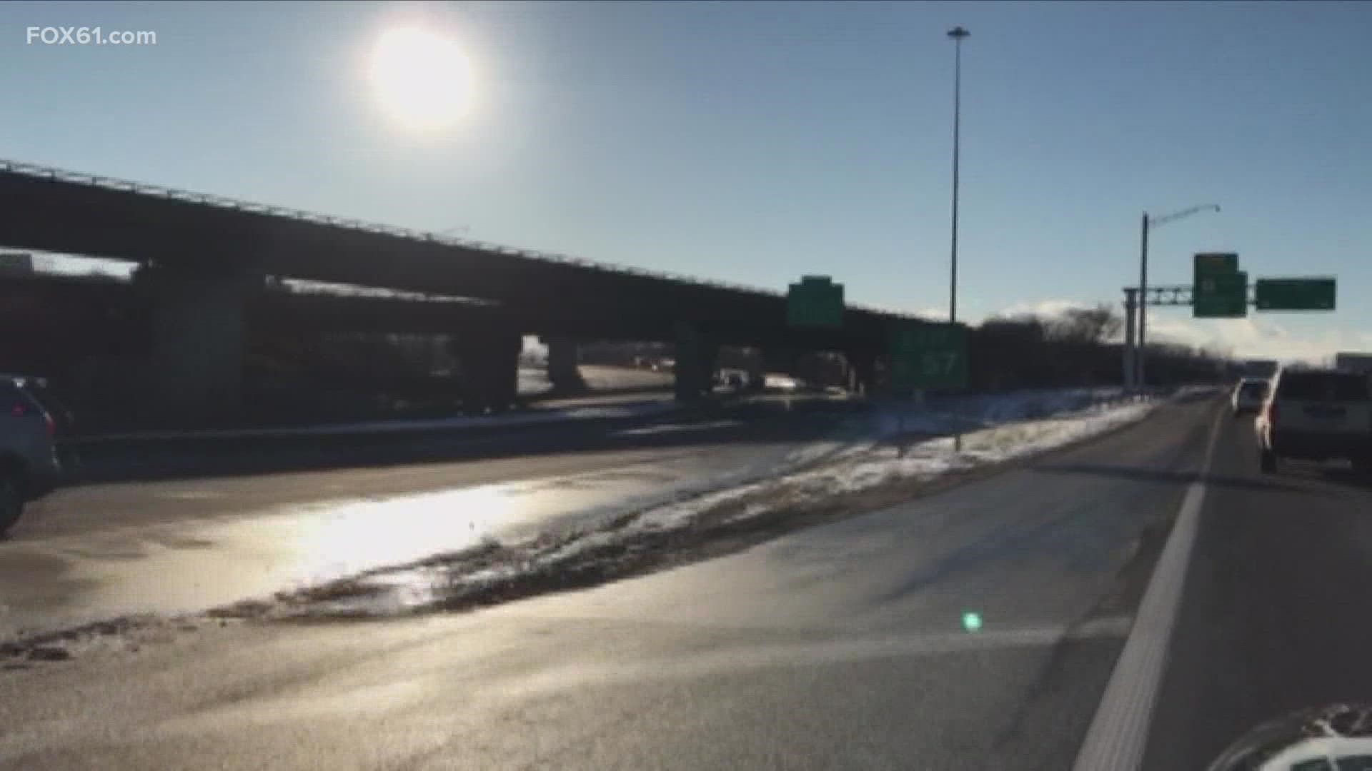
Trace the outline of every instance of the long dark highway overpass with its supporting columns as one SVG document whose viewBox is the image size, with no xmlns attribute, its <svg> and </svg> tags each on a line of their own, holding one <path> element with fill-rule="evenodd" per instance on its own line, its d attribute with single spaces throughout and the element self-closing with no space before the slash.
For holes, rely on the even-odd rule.
<svg viewBox="0 0 1372 771">
<path fill-rule="evenodd" d="M 849 307 L 842 329 L 790 329 L 781 292 L 4 161 L 0 246 L 140 263 L 137 291 L 151 303 L 166 376 L 154 396 L 182 420 L 235 409 L 254 303 L 283 324 L 359 313 L 361 305 L 321 298 L 261 303 L 265 276 L 487 302 L 420 310 L 428 303 L 377 300 L 388 303 L 379 318 L 401 327 L 451 324 L 469 370 L 480 373 L 468 386 L 493 405 L 513 396 L 523 335 L 675 342 L 678 394 L 689 399 L 702 392 L 720 344 L 842 351 L 870 381 L 899 318 Z"/>
</svg>

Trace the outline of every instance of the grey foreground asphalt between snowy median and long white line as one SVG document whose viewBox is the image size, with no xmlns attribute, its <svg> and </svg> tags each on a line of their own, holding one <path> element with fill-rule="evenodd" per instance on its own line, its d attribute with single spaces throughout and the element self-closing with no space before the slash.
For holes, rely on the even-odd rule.
<svg viewBox="0 0 1372 771">
<path fill-rule="evenodd" d="M 1070 768 L 1218 406 L 593 590 L 176 627 L 0 672 L 0 766 Z M 1217 484 L 1210 505 L 1305 509 L 1325 483 L 1292 484 Z"/>
</svg>

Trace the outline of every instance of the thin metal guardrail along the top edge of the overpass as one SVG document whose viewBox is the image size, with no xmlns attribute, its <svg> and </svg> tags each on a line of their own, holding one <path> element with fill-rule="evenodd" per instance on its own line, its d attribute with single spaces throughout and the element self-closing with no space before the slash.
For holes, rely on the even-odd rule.
<svg viewBox="0 0 1372 771">
<path fill-rule="evenodd" d="M 727 289 L 733 292 L 742 292 L 749 295 L 766 296 L 766 298 L 782 298 L 783 292 L 772 289 L 761 289 L 757 287 L 746 287 L 744 284 L 733 284 L 727 281 L 712 281 L 708 278 L 698 278 L 691 276 L 685 276 L 681 273 L 668 273 L 659 270 L 645 270 L 642 268 L 632 268 L 628 265 L 615 265 L 609 262 L 595 262 L 578 257 L 568 257 L 564 254 L 542 252 L 535 250 L 516 248 L 502 244 L 493 244 L 487 241 L 479 241 L 473 239 L 458 239 L 453 236 L 445 236 L 439 233 L 432 233 L 427 230 L 412 230 L 407 228 L 398 228 L 394 225 L 381 225 L 377 222 L 366 222 L 362 220 L 353 220 L 344 217 L 333 217 L 329 214 L 318 214 L 314 211 L 305 211 L 299 209 L 288 209 L 281 206 L 269 206 L 265 203 L 254 203 L 247 200 L 239 200 L 226 196 L 210 195 L 210 193 L 196 193 L 189 191 L 180 191 L 176 188 L 167 188 L 162 185 L 151 185 L 145 182 L 134 182 L 130 180 L 118 180 L 114 177 L 100 177 L 96 174 L 84 174 L 81 171 L 69 171 L 64 169 L 55 169 L 51 166 L 40 166 L 37 163 L 23 163 L 19 161 L 5 161 L 0 159 L 0 171 L 11 171 L 15 174 L 25 174 L 29 177 L 37 177 L 44 180 L 55 180 L 62 182 L 77 182 L 99 188 L 114 189 L 119 192 L 132 192 L 137 195 L 145 195 L 152 198 L 163 198 L 169 200 L 180 200 L 185 203 L 195 203 L 200 206 L 214 206 L 218 209 L 229 209 L 235 211 L 248 211 L 252 214 L 263 214 L 268 217 L 280 217 L 285 220 L 296 220 L 305 222 L 314 222 L 318 225 L 327 225 L 332 228 L 343 228 L 348 230 L 361 230 L 365 233 L 380 233 L 387 236 L 395 236 L 399 239 L 406 239 L 412 241 L 424 243 L 438 243 L 451 247 L 462 247 L 469 250 L 486 251 L 491 254 L 501 254 L 508 257 L 520 257 L 524 259 L 534 259 L 539 262 L 547 262 L 552 265 L 568 265 L 573 268 L 584 268 L 589 270 L 601 270 L 606 273 L 617 273 L 622 276 L 641 276 L 659 278 L 665 281 L 672 281 L 676 284 L 690 284 L 696 287 L 709 287 L 713 289 Z M 886 309 L 878 309 L 873 306 L 848 305 L 851 310 L 860 310 L 866 313 L 875 313 L 882 316 L 892 316 L 897 318 L 914 318 L 910 314 L 896 313 Z"/>
</svg>

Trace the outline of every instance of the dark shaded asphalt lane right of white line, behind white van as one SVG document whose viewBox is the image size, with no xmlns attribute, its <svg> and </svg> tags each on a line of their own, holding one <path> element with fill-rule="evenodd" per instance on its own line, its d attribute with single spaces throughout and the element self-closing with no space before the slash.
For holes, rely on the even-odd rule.
<svg viewBox="0 0 1372 771">
<path fill-rule="evenodd" d="M 1228 420 L 1170 645 L 1146 767 L 1203 768 L 1259 723 L 1372 701 L 1372 479 L 1338 462 L 1258 471 Z"/>
</svg>

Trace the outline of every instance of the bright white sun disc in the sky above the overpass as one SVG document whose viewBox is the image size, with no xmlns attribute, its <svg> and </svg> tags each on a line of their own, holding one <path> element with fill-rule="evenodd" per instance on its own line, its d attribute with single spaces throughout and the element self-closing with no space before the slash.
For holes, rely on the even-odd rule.
<svg viewBox="0 0 1372 771">
<path fill-rule="evenodd" d="M 372 85 L 386 111 L 409 128 L 446 128 L 472 102 L 472 67 L 457 43 L 420 27 L 381 34 L 372 54 Z"/>
</svg>

